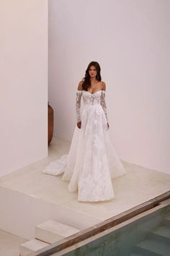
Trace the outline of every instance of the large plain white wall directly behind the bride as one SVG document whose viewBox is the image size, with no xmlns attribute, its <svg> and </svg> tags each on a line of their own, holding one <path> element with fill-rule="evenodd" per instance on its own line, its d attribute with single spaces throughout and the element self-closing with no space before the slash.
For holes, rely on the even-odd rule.
<svg viewBox="0 0 170 256">
<path fill-rule="evenodd" d="M 71 140 L 77 84 L 99 61 L 120 158 L 170 174 L 169 12 L 169 0 L 49 1 L 55 135 Z"/>
</svg>

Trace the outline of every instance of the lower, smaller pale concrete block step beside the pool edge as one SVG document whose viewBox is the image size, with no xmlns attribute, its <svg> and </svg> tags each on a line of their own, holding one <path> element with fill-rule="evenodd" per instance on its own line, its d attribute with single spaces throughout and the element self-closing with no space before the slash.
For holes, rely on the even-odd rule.
<svg viewBox="0 0 170 256">
<path fill-rule="evenodd" d="M 49 245 L 48 243 L 42 242 L 37 239 L 32 239 L 28 242 L 25 242 L 24 244 L 20 244 L 19 255 L 20 256 L 30 255 L 31 253 L 36 252 L 38 249 L 45 248 L 48 245 Z"/>
</svg>

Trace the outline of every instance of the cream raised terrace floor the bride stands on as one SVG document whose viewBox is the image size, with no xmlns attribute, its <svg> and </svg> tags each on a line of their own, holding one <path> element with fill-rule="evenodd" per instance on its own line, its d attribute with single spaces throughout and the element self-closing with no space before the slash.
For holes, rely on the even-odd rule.
<svg viewBox="0 0 170 256">
<path fill-rule="evenodd" d="M 1 177 L 0 186 L 95 216 L 101 221 L 169 191 L 169 174 L 122 161 L 127 175 L 112 181 L 115 191 L 113 200 L 79 202 L 76 192 L 68 192 L 68 182 L 61 180 L 62 174 L 60 176 L 42 174 L 43 168 L 50 161 L 68 153 L 69 147 L 70 142 L 54 138 L 47 158 Z"/>
</svg>

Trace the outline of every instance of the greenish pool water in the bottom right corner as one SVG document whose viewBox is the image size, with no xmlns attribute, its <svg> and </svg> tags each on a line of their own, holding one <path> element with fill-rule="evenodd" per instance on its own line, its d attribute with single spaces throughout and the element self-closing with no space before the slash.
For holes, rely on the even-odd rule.
<svg viewBox="0 0 170 256">
<path fill-rule="evenodd" d="M 65 256 L 170 256 L 170 205 Z"/>
</svg>

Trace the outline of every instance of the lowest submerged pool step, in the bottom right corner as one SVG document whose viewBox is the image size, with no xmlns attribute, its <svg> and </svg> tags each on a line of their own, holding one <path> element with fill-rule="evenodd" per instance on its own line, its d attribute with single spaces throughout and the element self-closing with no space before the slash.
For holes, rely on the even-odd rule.
<svg viewBox="0 0 170 256">
<path fill-rule="evenodd" d="M 135 252 L 141 255 L 149 256 L 169 256 L 170 244 L 155 241 L 153 239 L 146 239 L 136 244 L 134 247 Z"/>
</svg>

